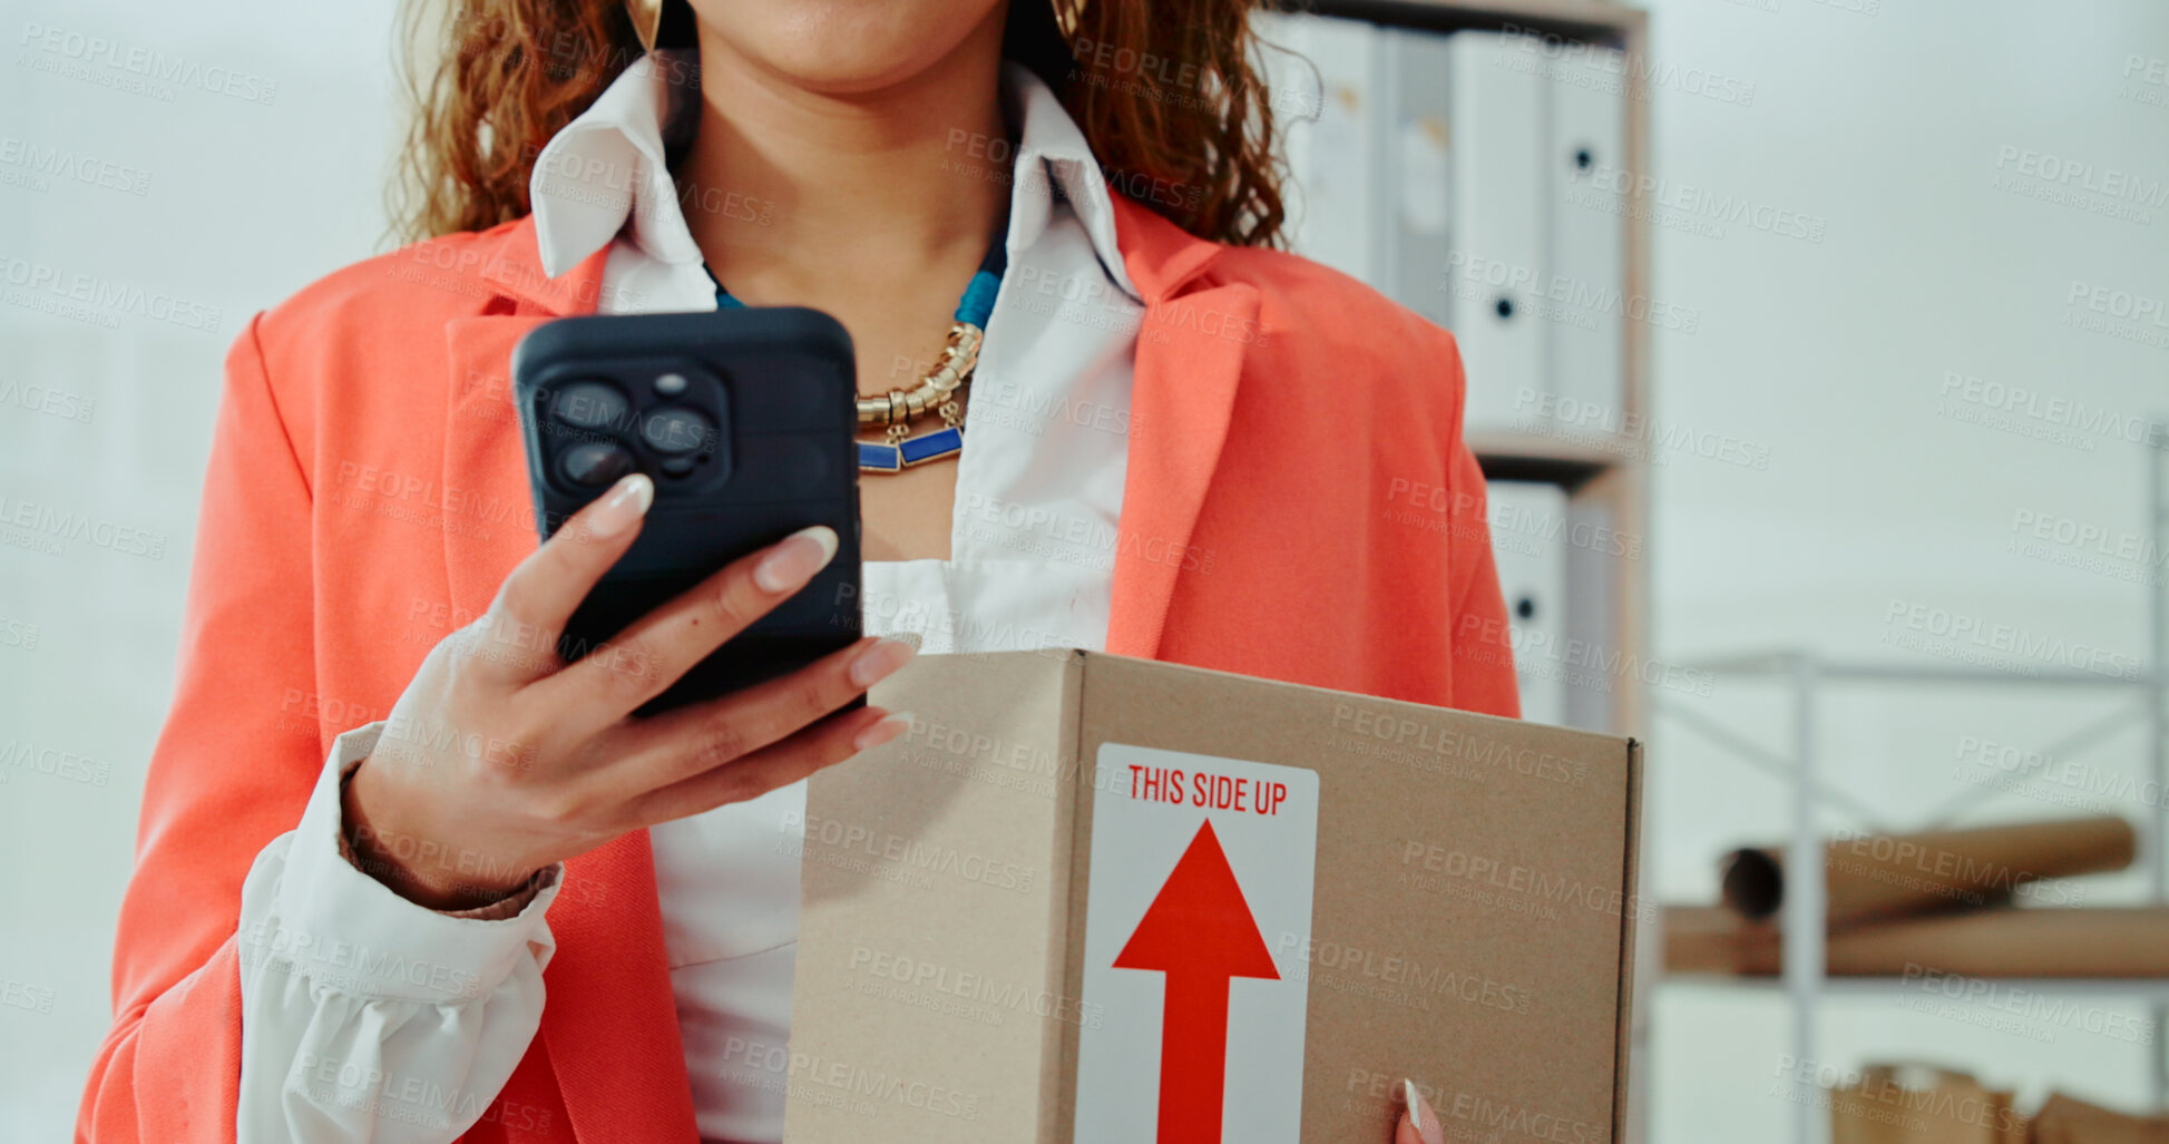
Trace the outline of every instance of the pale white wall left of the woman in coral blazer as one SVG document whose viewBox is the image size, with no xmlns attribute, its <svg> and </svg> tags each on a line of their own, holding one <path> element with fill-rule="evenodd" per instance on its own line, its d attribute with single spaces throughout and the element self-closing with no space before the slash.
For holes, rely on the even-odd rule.
<svg viewBox="0 0 2169 1144">
<path fill-rule="evenodd" d="M 35 506 L 141 536 L 61 556 L 0 543 L 0 1140 L 67 1140 L 106 1029 L 226 345 L 384 232 L 390 11 L 0 0 L 0 517 Z M 130 74 L 130 52 L 174 78 Z M 150 91 L 113 87 L 132 80 Z M 89 158 L 93 182 L 39 174 L 54 150 Z M 130 302 L 41 313 L 17 282 L 46 271 Z M 61 415 L 26 408 L 33 386 Z M 104 784 L 24 751 L 87 760 Z"/>
</svg>

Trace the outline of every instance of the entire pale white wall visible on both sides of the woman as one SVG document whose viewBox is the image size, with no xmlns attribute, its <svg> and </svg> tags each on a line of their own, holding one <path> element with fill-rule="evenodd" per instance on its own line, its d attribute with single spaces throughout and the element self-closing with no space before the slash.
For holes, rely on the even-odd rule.
<svg viewBox="0 0 2169 1144">
<path fill-rule="evenodd" d="M 56 1140 L 106 1025 L 113 910 L 171 688 L 219 358 L 252 310 L 377 250 L 390 7 L 245 0 L 206 20 L 141 0 L 7 0 L 0 13 L 0 148 L 65 148 L 150 174 L 141 195 L 0 182 L 0 278 L 28 263 L 219 310 L 204 332 L 0 304 L 9 510 L 30 501 L 165 536 L 156 560 L 0 545 L 0 753 L 52 747 L 106 766 L 93 786 L 0 762 L 0 1137 Z M 30 24 L 278 89 L 243 102 L 187 85 L 167 85 L 171 100 L 100 87 L 41 69 L 76 61 L 24 43 Z M 2169 208 L 2119 221 L 1991 187 L 2008 174 L 2004 145 L 2169 180 L 2169 87 L 2139 85 L 2143 102 L 2121 76 L 2134 52 L 2169 56 L 2169 7 L 1883 0 L 1861 15 L 1818 0 L 1661 0 L 1653 30 L 1657 63 L 1755 85 L 1750 106 L 1659 87 L 1655 171 L 1826 219 L 1822 243 L 1742 224 L 1722 237 L 1657 230 L 1653 293 L 1703 313 L 1694 334 L 1657 332 L 1659 417 L 1772 458 L 1750 471 L 1679 454 L 1657 469 L 1659 651 L 1898 656 L 1881 640 L 1904 601 L 2143 656 L 2136 584 L 2006 551 L 2022 510 L 2143 530 L 2141 452 L 2082 430 L 2080 445 L 2056 445 L 1965 423 L 1939 389 L 1956 371 L 2169 417 L 2169 347 L 2058 323 L 2074 280 L 2169 297 Z M 0 163 L 0 180 L 15 176 Z M 11 382 L 95 406 L 87 421 L 33 412 L 4 397 Z M 1768 688 L 1692 701 L 1785 745 L 1783 699 Z M 1876 790 L 1904 825 L 1963 790 L 1950 779 L 1959 736 L 2045 745 L 2102 708 L 1870 690 L 1833 697 L 1824 742 L 1833 777 Z M 2130 768 L 2136 745 L 2123 734 L 2084 758 Z M 1651 760 L 1653 877 L 1670 899 L 1707 899 L 1718 849 L 1781 831 L 1783 792 L 1668 723 Z M 1974 818 L 2043 810 L 2058 808 L 2000 797 Z M 2108 879 L 2097 901 L 2139 890 L 2136 877 Z M 2136 1103 L 2145 1088 L 2141 1051 L 2084 1031 L 1985 1033 L 1889 996 L 1833 1005 L 1824 1025 L 1839 1064 L 1915 1051 L 2032 1094 L 2054 1081 Z M 1787 1122 L 1789 1105 L 1768 1094 L 1787 1044 L 1772 996 L 1668 990 L 1653 1035 L 1655 1140 L 1766 1140 Z"/>
</svg>

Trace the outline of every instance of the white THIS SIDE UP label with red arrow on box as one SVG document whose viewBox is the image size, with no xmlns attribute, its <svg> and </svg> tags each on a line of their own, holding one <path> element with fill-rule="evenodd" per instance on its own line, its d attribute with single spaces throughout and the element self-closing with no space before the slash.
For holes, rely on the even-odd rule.
<svg viewBox="0 0 2169 1144">
<path fill-rule="evenodd" d="M 1106 742 L 1076 1144 L 1295 1144 L 1319 775 Z"/>
</svg>

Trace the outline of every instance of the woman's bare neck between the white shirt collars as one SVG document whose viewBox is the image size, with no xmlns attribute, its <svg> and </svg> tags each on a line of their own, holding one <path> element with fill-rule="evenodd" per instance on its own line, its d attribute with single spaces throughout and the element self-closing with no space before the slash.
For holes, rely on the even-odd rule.
<svg viewBox="0 0 2169 1144">
<path fill-rule="evenodd" d="M 998 15 L 881 91 L 809 91 L 701 39 L 705 106 L 679 202 L 733 295 L 855 308 L 970 280 L 1009 211 L 1009 180 L 985 178 L 987 141 L 1006 139 Z"/>
</svg>

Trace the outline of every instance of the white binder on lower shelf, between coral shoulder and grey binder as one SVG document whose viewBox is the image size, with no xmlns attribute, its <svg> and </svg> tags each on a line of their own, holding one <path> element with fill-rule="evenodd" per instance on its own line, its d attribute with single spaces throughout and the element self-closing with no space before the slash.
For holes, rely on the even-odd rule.
<svg viewBox="0 0 2169 1144">
<path fill-rule="evenodd" d="M 1512 630 L 1520 716 L 1568 725 L 1566 664 L 1566 491 L 1520 480 L 1490 482 L 1492 560 Z"/>
</svg>

